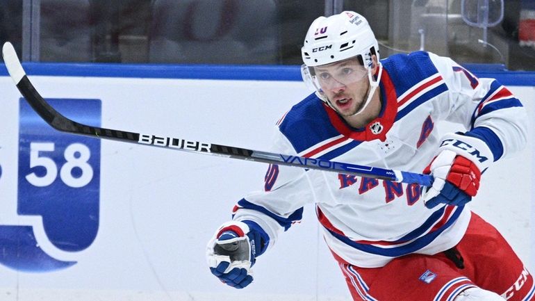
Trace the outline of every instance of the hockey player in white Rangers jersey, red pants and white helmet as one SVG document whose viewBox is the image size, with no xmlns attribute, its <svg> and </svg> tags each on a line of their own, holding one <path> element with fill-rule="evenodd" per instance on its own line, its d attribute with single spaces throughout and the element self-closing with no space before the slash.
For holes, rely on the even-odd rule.
<svg viewBox="0 0 535 301">
<path fill-rule="evenodd" d="M 424 171 L 433 185 L 270 165 L 263 191 L 240 200 L 208 243 L 211 272 L 250 284 L 256 258 L 313 203 L 354 300 L 535 300 L 532 275 L 467 205 L 484 171 L 525 146 L 522 104 L 450 58 L 379 60 L 378 50 L 357 13 L 315 19 L 302 74 L 316 92 L 277 123 L 274 151 Z M 440 137 L 442 120 L 466 131 Z"/>
</svg>

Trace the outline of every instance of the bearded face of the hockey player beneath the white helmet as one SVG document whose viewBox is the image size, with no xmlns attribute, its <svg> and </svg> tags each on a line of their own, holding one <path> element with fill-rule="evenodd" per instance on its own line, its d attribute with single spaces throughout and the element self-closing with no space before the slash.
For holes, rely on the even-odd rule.
<svg viewBox="0 0 535 301">
<path fill-rule="evenodd" d="M 370 81 L 356 58 L 314 67 L 317 83 L 342 116 L 354 115 L 364 105 Z"/>
</svg>

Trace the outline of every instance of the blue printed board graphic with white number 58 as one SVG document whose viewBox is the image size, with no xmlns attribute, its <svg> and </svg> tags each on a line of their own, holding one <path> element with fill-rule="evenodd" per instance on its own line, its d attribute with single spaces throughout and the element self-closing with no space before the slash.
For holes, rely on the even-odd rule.
<svg viewBox="0 0 535 301">
<path fill-rule="evenodd" d="M 100 127 L 99 99 L 47 101 L 69 118 Z M 17 214 L 40 215 L 49 242 L 58 250 L 84 250 L 99 229 L 100 140 L 56 131 L 24 99 L 19 108 Z M 19 238 L 13 245 L 2 239 L 6 236 Z M 76 263 L 41 250 L 32 227 L 0 226 L 0 243 L 8 250 L 1 263 L 15 270 L 57 270 Z M 9 252 L 11 248 L 17 250 Z"/>
</svg>

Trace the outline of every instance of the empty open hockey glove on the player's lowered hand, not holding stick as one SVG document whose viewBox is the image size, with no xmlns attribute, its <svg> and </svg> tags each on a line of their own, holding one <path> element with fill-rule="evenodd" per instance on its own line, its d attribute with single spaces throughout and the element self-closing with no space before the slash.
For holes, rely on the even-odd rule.
<svg viewBox="0 0 535 301">
<path fill-rule="evenodd" d="M 249 285 L 253 281 L 252 266 L 259 255 L 256 247 L 267 247 L 262 234 L 265 232 L 254 222 L 224 223 L 206 246 L 206 259 L 212 274 L 235 288 Z"/>
</svg>

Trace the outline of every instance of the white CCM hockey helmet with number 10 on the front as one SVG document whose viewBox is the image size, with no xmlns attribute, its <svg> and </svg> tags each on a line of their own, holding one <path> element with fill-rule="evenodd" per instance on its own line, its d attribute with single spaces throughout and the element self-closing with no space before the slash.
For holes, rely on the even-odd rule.
<svg viewBox="0 0 535 301">
<path fill-rule="evenodd" d="M 307 67 L 335 63 L 361 56 L 365 67 L 372 67 L 372 54 L 379 60 L 379 44 L 362 15 L 344 11 L 312 22 L 301 49 Z"/>
</svg>

